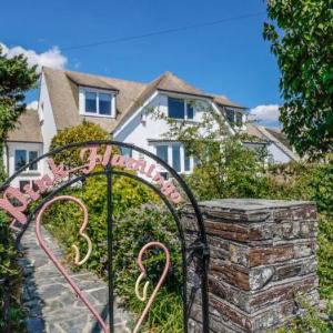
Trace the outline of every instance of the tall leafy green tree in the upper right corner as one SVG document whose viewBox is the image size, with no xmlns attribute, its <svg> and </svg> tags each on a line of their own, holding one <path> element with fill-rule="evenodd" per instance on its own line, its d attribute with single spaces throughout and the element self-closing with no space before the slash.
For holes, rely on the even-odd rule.
<svg viewBox="0 0 333 333">
<path fill-rule="evenodd" d="M 280 120 L 310 157 L 333 151 L 333 1 L 268 0 L 264 39 L 281 70 Z"/>
</svg>

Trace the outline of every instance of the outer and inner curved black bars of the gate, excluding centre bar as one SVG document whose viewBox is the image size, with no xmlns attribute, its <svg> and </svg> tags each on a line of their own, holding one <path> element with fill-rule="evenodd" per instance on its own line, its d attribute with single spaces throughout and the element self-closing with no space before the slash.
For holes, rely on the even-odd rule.
<svg viewBox="0 0 333 333">
<path fill-rule="evenodd" d="M 72 149 L 72 148 L 80 148 L 80 147 L 89 147 L 89 145 L 100 145 L 100 144 L 111 144 L 111 145 L 115 145 L 115 147 L 124 147 L 124 148 L 129 148 L 132 149 L 134 151 L 141 152 L 144 155 L 151 158 L 153 161 L 158 162 L 159 164 L 161 164 L 165 170 L 168 170 L 171 175 L 178 181 L 178 183 L 180 184 L 180 186 L 182 188 L 182 190 L 185 192 L 188 199 L 190 200 L 193 209 L 194 209 L 194 213 L 195 213 L 195 218 L 196 218 L 196 226 L 199 228 L 200 231 L 200 246 L 196 248 L 196 251 L 201 251 L 201 264 L 202 264 L 202 276 L 201 276 L 201 286 L 202 286 L 202 314 L 203 314 L 203 332 L 208 332 L 209 330 L 209 311 L 208 311 L 208 262 L 209 262 L 209 249 L 208 249 L 208 243 L 206 243 L 206 236 L 205 236 L 205 231 L 204 231 L 204 225 L 203 225 L 203 219 L 199 209 L 199 205 L 196 203 L 196 200 L 192 193 L 192 191 L 189 189 L 188 184 L 185 183 L 185 181 L 175 172 L 174 169 L 172 169 L 167 162 L 164 162 L 162 159 L 160 159 L 159 157 L 154 155 L 153 153 L 135 147 L 134 144 L 129 144 L 129 143 L 123 143 L 123 142 L 118 142 L 118 141 L 111 141 L 111 140 L 99 140 L 99 141 L 88 141 L 88 142 L 79 142 L 79 143 L 71 143 L 64 147 L 61 147 L 59 149 L 52 150 L 43 155 L 40 155 L 39 158 L 34 159 L 33 161 L 29 162 L 28 164 L 23 165 L 22 168 L 20 168 L 12 176 L 10 176 L 6 182 L 3 182 L 0 186 L 0 191 L 3 191 L 9 184 L 10 182 L 16 179 L 22 171 L 24 171 L 27 168 L 31 167 L 32 164 L 39 162 L 40 160 L 50 157 L 50 155 L 56 155 L 62 151 L 65 151 L 68 149 Z M 170 201 L 167 199 L 167 196 L 160 192 L 160 190 L 158 188 L 155 188 L 153 184 L 149 183 L 148 181 L 145 181 L 144 179 L 137 176 L 134 174 L 131 173 L 127 173 L 127 172 L 122 172 L 122 171 L 117 171 L 113 170 L 112 167 L 110 165 L 110 163 L 107 165 L 107 169 L 104 171 L 101 172 L 94 172 L 94 173 L 90 173 L 90 174 L 84 174 L 84 175 L 79 175 L 77 178 L 70 179 L 69 181 L 67 181 L 65 183 L 63 183 L 62 185 L 60 185 L 59 188 L 57 188 L 54 191 L 52 191 L 49 195 L 46 196 L 46 199 L 42 201 L 41 204 L 39 204 L 34 211 L 29 215 L 29 219 L 27 221 L 27 223 L 23 225 L 22 230 L 19 232 L 17 240 L 16 240 L 16 244 L 17 246 L 19 245 L 19 242 L 24 233 L 24 231 L 28 229 L 33 215 L 36 214 L 36 212 L 38 210 L 41 209 L 41 206 L 48 202 L 49 200 L 51 200 L 57 193 L 59 193 L 61 190 L 70 186 L 71 184 L 80 181 L 80 180 L 84 180 L 89 176 L 92 175 L 107 175 L 107 178 L 110 181 L 108 181 L 108 186 L 110 186 L 110 191 L 112 190 L 112 175 L 123 175 L 123 176 L 128 176 L 131 179 L 134 179 L 137 181 L 140 181 L 142 183 L 144 183 L 145 185 L 148 185 L 150 189 L 152 189 L 164 202 L 164 204 L 167 204 L 168 209 L 170 210 L 170 212 L 172 213 L 176 225 L 178 225 L 178 230 L 179 230 L 179 234 L 180 234 L 180 239 L 182 242 L 182 263 L 183 263 L 183 272 L 185 272 L 184 274 L 184 283 L 183 283 L 183 302 L 185 303 L 185 305 L 188 305 L 188 300 L 186 300 L 186 281 L 188 281 L 188 269 L 186 269 L 186 260 L 185 260 L 185 244 L 184 244 L 184 235 L 183 235 L 183 230 L 181 228 L 180 224 L 180 220 L 179 216 L 174 210 L 174 208 L 172 206 L 172 204 L 170 203 Z M 109 192 L 109 191 L 108 191 Z M 108 193 L 109 195 L 109 193 Z M 112 202 L 111 202 L 112 205 Z M 111 218 L 112 219 L 112 218 Z M 111 223 L 112 225 L 113 223 Z M 109 223 L 108 223 L 109 225 Z M 111 226 L 112 228 L 112 226 Z M 195 248 L 195 246 L 194 246 Z M 198 252 L 196 252 L 198 253 Z M 111 260 L 112 262 L 112 260 Z M 109 273 L 110 275 L 110 273 Z M 110 284 L 109 284 L 110 285 Z M 111 306 L 110 306 L 111 307 Z M 184 310 L 184 330 L 185 332 L 188 332 L 188 324 L 186 324 L 186 320 L 188 320 L 188 309 L 186 306 L 183 306 Z M 111 319 L 112 320 L 112 319 Z"/>
</svg>

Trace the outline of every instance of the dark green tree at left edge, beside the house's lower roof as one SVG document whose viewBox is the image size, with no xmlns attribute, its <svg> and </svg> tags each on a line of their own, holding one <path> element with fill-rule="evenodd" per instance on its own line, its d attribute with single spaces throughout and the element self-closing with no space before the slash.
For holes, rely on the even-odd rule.
<svg viewBox="0 0 333 333">
<path fill-rule="evenodd" d="M 0 46 L 0 144 L 26 110 L 24 93 L 36 88 L 37 67 L 22 56 L 8 58 Z"/>
</svg>

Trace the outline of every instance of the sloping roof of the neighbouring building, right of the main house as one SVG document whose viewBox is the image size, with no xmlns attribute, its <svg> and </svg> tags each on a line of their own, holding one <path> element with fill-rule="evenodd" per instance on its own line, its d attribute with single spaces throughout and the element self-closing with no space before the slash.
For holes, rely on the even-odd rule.
<svg viewBox="0 0 333 333">
<path fill-rule="evenodd" d="M 293 152 L 292 145 L 280 130 L 248 123 L 246 133 L 261 140 L 273 142 L 291 159 L 294 161 L 300 160 L 300 157 Z"/>
</svg>

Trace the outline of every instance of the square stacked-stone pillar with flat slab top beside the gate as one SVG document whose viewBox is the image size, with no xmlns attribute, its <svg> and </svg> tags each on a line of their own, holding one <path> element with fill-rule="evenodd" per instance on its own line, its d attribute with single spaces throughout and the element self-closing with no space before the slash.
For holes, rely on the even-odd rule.
<svg viewBox="0 0 333 333">
<path fill-rule="evenodd" d="M 300 293 L 317 303 L 314 203 L 230 199 L 200 208 L 211 255 L 210 332 L 266 332 L 302 312 Z M 191 220 L 188 210 L 189 236 Z M 198 311 L 190 313 L 199 327 Z"/>
</svg>

